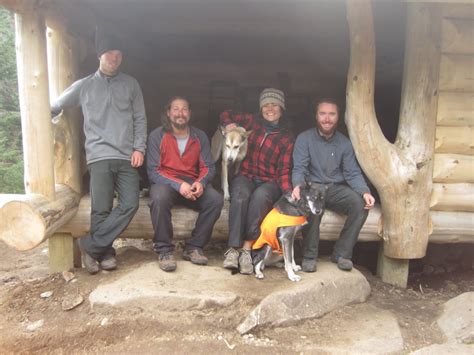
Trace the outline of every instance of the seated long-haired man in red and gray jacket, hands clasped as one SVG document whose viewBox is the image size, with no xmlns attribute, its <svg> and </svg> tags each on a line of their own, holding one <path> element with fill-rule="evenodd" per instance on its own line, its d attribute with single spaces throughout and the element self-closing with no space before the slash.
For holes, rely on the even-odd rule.
<svg viewBox="0 0 474 355">
<path fill-rule="evenodd" d="M 150 213 L 155 231 L 154 250 L 164 271 L 174 271 L 173 225 L 171 208 L 175 204 L 199 211 L 191 238 L 186 241 L 183 259 L 206 265 L 204 246 L 211 239 L 219 218 L 222 196 L 210 182 L 215 174 L 209 139 L 189 125 L 191 110 L 183 97 L 170 100 L 162 117 L 162 127 L 150 133 L 147 148 L 147 171 L 150 180 Z"/>
</svg>

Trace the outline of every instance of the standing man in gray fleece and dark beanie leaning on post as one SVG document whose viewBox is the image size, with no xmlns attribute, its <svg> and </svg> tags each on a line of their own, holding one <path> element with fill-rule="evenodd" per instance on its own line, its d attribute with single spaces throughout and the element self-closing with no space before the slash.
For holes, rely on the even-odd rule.
<svg viewBox="0 0 474 355">
<path fill-rule="evenodd" d="M 87 166 L 90 174 L 91 228 L 79 240 L 82 261 L 95 274 L 117 267 L 114 240 L 138 209 L 139 174 L 146 148 L 146 115 L 136 79 L 119 72 L 120 43 L 98 43 L 99 69 L 67 88 L 53 103 L 52 114 L 82 107 Z M 113 207 L 115 192 L 118 204 Z"/>
</svg>

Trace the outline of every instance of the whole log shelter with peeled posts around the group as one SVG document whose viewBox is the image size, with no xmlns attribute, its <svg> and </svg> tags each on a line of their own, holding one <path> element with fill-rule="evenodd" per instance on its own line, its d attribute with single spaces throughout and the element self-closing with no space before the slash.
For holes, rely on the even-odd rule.
<svg viewBox="0 0 474 355">
<path fill-rule="evenodd" d="M 268 86 L 286 94 L 296 133 L 312 100 L 345 103 L 340 126 L 380 202 L 359 241 L 379 241 L 378 274 L 406 287 L 428 242 L 474 243 L 474 4 L 467 0 L 0 0 L 15 12 L 25 195 L 0 195 L 0 238 L 18 250 L 49 239 L 52 272 L 77 261 L 89 229 L 79 109 L 52 124 L 50 101 L 98 67 L 96 31 L 124 44 L 148 129 L 174 95 L 211 135 L 218 113 L 253 111 Z M 342 117 L 341 117 L 342 121 Z M 143 175 L 143 187 L 146 177 Z M 175 236 L 196 214 L 175 209 Z M 215 226 L 226 235 L 227 209 Z M 326 213 L 321 239 L 343 218 Z M 150 238 L 147 199 L 123 237 Z M 76 263 L 77 265 L 77 263 Z"/>
</svg>

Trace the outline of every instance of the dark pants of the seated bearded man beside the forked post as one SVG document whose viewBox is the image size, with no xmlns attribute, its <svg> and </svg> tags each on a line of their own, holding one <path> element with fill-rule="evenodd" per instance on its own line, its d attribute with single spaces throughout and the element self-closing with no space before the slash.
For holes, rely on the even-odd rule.
<svg viewBox="0 0 474 355">
<path fill-rule="evenodd" d="M 364 209 L 364 199 L 350 187 L 330 185 L 326 196 L 326 208 L 339 214 L 347 215 L 339 239 L 334 246 L 333 255 L 352 258 L 359 232 L 367 219 L 368 211 Z M 321 216 L 309 218 L 309 224 L 303 228 L 304 258 L 315 259 L 318 256 L 319 225 Z"/>
</svg>

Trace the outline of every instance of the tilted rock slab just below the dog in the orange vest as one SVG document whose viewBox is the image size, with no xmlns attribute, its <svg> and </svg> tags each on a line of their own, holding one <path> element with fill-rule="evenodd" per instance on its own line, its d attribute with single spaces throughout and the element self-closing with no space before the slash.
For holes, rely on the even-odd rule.
<svg viewBox="0 0 474 355">
<path fill-rule="evenodd" d="M 245 334 L 257 326 L 321 317 L 347 304 L 365 302 L 369 294 L 370 285 L 359 271 L 345 272 L 322 262 L 316 273 L 304 274 L 299 283 L 265 297 L 237 330 Z"/>
</svg>

